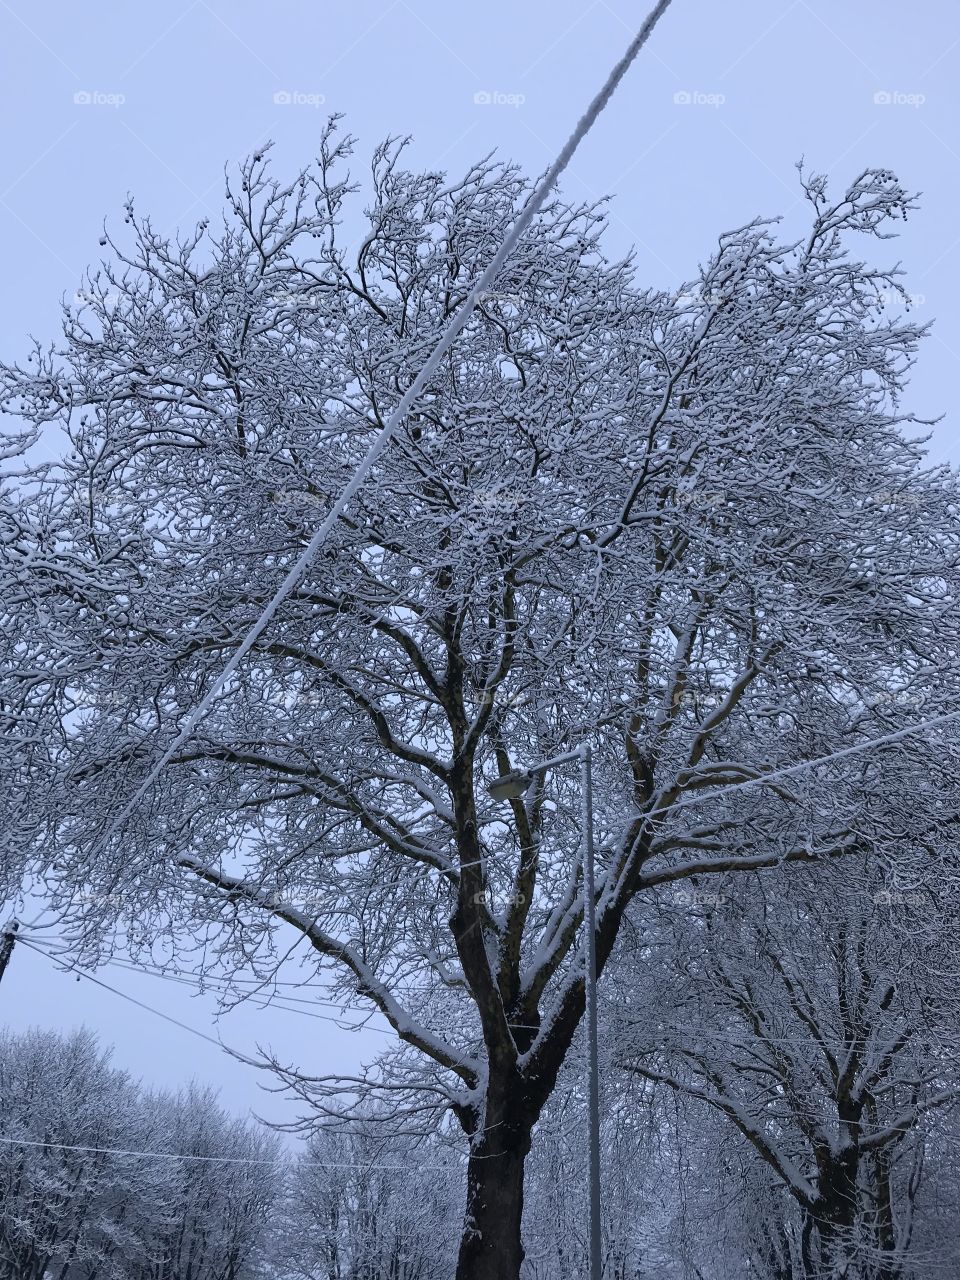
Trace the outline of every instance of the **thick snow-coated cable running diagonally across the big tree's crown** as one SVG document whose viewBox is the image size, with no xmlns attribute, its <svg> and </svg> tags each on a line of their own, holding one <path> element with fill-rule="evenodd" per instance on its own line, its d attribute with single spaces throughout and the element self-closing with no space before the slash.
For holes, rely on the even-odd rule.
<svg viewBox="0 0 960 1280">
<path fill-rule="evenodd" d="M 671 0 L 658 0 L 654 9 L 648 14 L 646 20 L 644 22 L 643 27 L 631 41 L 630 46 L 627 47 L 627 51 L 623 54 L 623 56 L 616 64 L 613 70 L 609 73 L 602 90 L 594 97 L 594 100 L 590 102 L 584 115 L 577 122 L 576 128 L 571 133 L 570 138 L 564 143 L 562 151 L 554 160 L 553 165 L 550 166 L 545 177 L 540 180 L 539 186 L 535 188 L 532 196 L 530 197 L 530 201 L 520 211 L 516 221 L 507 233 L 506 239 L 503 241 L 499 250 L 494 253 L 493 259 L 486 266 L 486 270 L 484 270 L 483 274 L 479 276 L 479 279 L 474 283 L 472 288 L 463 300 L 462 306 L 447 325 L 445 330 L 440 335 L 439 342 L 434 347 L 430 356 L 428 356 L 426 362 L 421 367 L 420 372 L 410 384 L 404 394 L 401 397 L 401 401 L 397 404 L 396 410 L 388 419 L 384 428 L 380 430 L 374 443 L 370 445 L 366 457 L 355 471 L 352 480 L 347 484 L 340 497 L 333 504 L 329 513 L 326 515 L 326 518 L 323 521 L 320 527 L 310 539 L 306 548 L 301 552 L 293 567 L 289 570 L 284 580 L 280 582 L 273 598 L 269 600 L 269 603 L 261 612 L 260 617 L 256 620 L 253 626 L 246 634 L 239 646 L 237 648 L 236 653 L 224 667 L 224 669 L 214 680 L 212 685 L 204 695 L 204 698 L 200 700 L 200 703 L 197 703 L 193 710 L 189 712 L 187 719 L 183 723 L 183 727 L 177 733 L 173 742 L 166 748 L 160 759 L 151 768 L 147 777 L 143 780 L 143 782 L 141 782 L 141 785 L 133 792 L 131 799 L 127 801 L 127 804 L 124 804 L 119 815 L 110 823 L 110 826 L 106 829 L 106 833 L 102 836 L 102 840 L 100 841 L 101 844 L 105 844 L 113 835 L 115 835 L 122 828 L 123 823 L 131 815 L 131 813 L 137 806 L 140 800 L 146 795 L 152 783 L 156 781 L 160 772 L 165 768 L 166 764 L 169 764 L 169 762 L 173 759 L 174 754 L 179 750 L 179 748 L 189 739 L 196 726 L 200 723 L 204 716 L 206 716 L 207 710 L 212 705 L 212 701 L 216 698 L 216 695 L 220 692 L 220 690 L 230 678 L 230 676 L 237 671 L 243 658 L 250 653 L 250 650 L 256 644 L 259 636 L 270 625 L 280 604 L 283 604 L 289 593 L 293 590 L 300 579 L 303 576 L 303 573 L 314 561 L 314 557 L 320 550 L 323 544 L 326 541 L 328 535 L 337 525 L 337 521 L 346 511 L 351 499 L 362 488 L 378 458 L 396 435 L 398 428 L 403 422 L 404 417 L 407 416 L 408 411 L 416 402 L 417 397 L 421 394 L 421 392 L 426 389 L 428 384 L 430 383 L 430 379 L 440 367 L 440 361 L 447 355 L 449 348 L 453 346 L 458 334 L 466 326 L 467 321 L 474 314 L 474 307 L 476 306 L 477 298 L 495 282 L 497 276 L 500 273 L 500 269 L 503 268 L 507 259 L 513 252 L 521 237 L 524 236 L 524 232 L 529 228 L 530 223 L 534 220 L 536 214 L 543 207 L 548 195 L 558 182 L 561 174 L 564 172 L 570 161 L 572 160 L 577 147 L 584 141 L 590 129 L 594 127 L 596 119 L 599 118 L 600 113 L 607 106 L 609 100 L 613 97 L 613 93 L 620 86 L 620 82 L 623 79 L 631 64 L 636 59 L 637 54 L 646 44 L 648 38 L 650 37 L 659 19 L 669 8 L 669 4 Z"/>
</svg>

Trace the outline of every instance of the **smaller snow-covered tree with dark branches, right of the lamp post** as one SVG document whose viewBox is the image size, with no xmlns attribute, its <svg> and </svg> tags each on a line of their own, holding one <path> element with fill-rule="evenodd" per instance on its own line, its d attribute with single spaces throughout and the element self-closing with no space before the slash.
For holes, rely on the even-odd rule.
<svg viewBox="0 0 960 1280">
<path fill-rule="evenodd" d="M 960 1105 L 955 1001 L 911 927 L 934 908 L 955 934 L 933 881 L 891 890 L 856 859 L 741 881 L 641 943 L 637 986 L 618 972 L 623 1065 L 742 1139 L 727 1194 L 748 1201 L 745 1252 L 768 1280 L 914 1274 L 929 1123 Z M 762 1169 L 746 1176 L 750 1153 Z"/>
</svg>

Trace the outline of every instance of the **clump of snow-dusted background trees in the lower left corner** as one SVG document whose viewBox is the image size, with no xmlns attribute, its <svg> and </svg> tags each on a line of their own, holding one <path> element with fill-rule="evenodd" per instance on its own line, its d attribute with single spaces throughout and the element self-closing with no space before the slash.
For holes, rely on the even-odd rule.
<svg viewBox="0 0 960 1280">
<path fill-rule="evenodd" d="M 0 1034 L 1 1280 L 255 1280 L 278 1157 L 209 1091 L 143 1093 L 90 1032 Z"/>
</svg>

